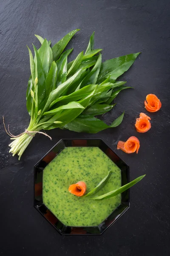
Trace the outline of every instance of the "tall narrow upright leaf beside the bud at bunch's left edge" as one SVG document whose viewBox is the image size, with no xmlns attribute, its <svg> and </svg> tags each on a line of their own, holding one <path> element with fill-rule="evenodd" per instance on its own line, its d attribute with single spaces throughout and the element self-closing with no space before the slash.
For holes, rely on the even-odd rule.
<svg viewBox="0 0 170 256">
<path fill-rule="evenodd" d="M 33 47 L 36 55 L 36 69 L 37 69 L 37 77 L 38 77 L 38 84 L 36 86 L 36 89 L 37 89 L 36 95 L 38 97 L 38 106 L 40 106 L 40 104 L 43 102 L 45 98 L 45 76 L 42 68 L 42 63 L 40 60 L 40 55 L 37 52 L 36 47 L 34 45 Z"/>
</svg>

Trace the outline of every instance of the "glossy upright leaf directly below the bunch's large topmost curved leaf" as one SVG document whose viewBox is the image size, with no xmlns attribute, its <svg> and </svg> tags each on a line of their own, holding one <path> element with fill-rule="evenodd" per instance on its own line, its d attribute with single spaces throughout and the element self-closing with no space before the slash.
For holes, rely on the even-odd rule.
<svg viewBox="0 0 170 256">
<path fill-rule="evenodd" d="M 58 61 L 56 61 L 57 67 L 58 67 L 58 76 L 57 76 L 57 82 L 56 87 L 59 84 L 62 84 L 67 79 L 67 57 L 72 52 L 72 49 L 68 49 L 65 52 L 62 53 Z"/>
</svg>

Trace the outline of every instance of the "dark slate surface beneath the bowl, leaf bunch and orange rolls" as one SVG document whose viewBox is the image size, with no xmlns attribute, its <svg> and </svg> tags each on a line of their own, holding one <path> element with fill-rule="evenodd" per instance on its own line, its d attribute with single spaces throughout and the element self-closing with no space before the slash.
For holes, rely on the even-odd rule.
<svg viewBox="0 0 170 256">
<path fill-rule="evenodd" d="M 123 91 L 113 121 L 123 110 L 123 123 L 99 134 L 53 130 L 37 135 L 20 162 L 8 153 L 9 137 L 0 121 L 0 255 L 3 256 L 159 256 L 170 255 L 170 3 L 169 0 L 1 0 L 0 116 L 11 132 L 28 126 L 26 88 L 29 58 L 26 44 L 39 46 L 34 34 L 52 43 L 80 28 L 69 46 L 74 57 L 85 49 L 93 31 L 103 59 L 141 51 L 122 79 L 135 90 Z M 155 93 L 162 102 L 150 113 L 152 128 L 138 134 L 134 122 L 144 111 L 144 99 Z M 118 140 L 131 135 L 141 142 L 139 154 L 118 151 L 130 166 L 130 179 L 147 176 L 131 189 L 130 209 L 102 236 L 60 236 L 33 208 L 33 166 L 61 138 L 100 137 L 116 150 Z"/>
</svg>

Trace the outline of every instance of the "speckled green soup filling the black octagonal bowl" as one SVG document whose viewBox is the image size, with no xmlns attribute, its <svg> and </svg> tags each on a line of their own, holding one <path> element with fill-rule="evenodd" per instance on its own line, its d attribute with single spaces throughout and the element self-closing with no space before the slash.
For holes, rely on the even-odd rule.
<svg viewBox="0 0 170 256">
<path fill-rule="evenodd" d="M 121 170 L 97 147 L 65 148 L 43 171 L 43 203 L 67 226 L 97 226 L 119 206 L 121 195 L 92 200 L 71 194 L 68 187 L 84 181 L 88 193 L 110 170 L 113 174 L 108 183 L 96 195 L 121 186 Z"/>
</svg>

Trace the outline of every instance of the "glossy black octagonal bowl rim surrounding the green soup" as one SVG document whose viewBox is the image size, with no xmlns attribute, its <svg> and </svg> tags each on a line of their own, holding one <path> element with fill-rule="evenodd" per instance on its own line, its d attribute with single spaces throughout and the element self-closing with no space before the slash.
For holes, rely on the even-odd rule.
<svg viewBox="0 0 170 256">
<path fill-rule="evenodd" d="M 128 208 L 129 189 L 122 193 L 121 204 L 108 218 L 96 227 L 68 227 L 43 204 L 42 201 L 42 174 L 45 166 L 65 147 L 99 147 L 121 169 L 122 186 L 129 182 L 129 166 L 101 139 L 63 139 L 60 140 L 34 166 L 34 207 L 61 235 L 101 235 L 108 229 Z"/>
</svg>

